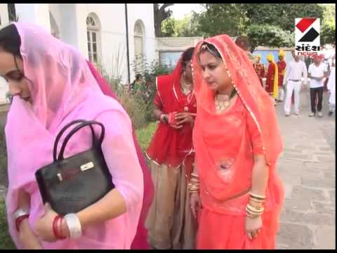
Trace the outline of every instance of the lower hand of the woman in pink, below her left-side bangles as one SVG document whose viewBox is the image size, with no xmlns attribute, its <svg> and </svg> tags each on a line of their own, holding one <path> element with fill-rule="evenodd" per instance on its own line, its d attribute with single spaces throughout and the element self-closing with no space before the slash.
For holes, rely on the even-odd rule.
<svg viewBox="0 0 337 253">
<path fill-rule="evenodd" d="M 30 228 L 28 219 L 24 219 L 20 223 L 19 240 L 22 249 L 43 249 L 37 235 L 35 235 L 32 228 Z"/>
</svg>

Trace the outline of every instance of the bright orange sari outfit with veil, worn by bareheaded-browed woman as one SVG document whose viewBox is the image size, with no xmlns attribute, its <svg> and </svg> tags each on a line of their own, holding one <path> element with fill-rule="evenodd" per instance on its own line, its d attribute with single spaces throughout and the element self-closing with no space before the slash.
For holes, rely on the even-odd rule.
<svg viewBox="0 0 337 253">
<path fill-rule="evenodd" d="M 197 56 L 192 60 L 197 119 L 193 143 L 199 174 L 197 249 L 274 249 L 278 217 L 284 200 L 282 182 L 275 170 L 282 151 L 272 98 L 260 86 L 246 54 L 227 35 L 209 38 L 216 46 L 237 90 L 230 108 L 218 114 L 213 91 L 207 88 Z M 198 52 L 202 44 L 197 47 Z M 197 55 L 197 54 L 196 54 Z M 269 179 L 261 216 L 263 227 L 249 241 L 244 230 L 251 189 L 253 156 L 263 154 Z"/>
</svg>

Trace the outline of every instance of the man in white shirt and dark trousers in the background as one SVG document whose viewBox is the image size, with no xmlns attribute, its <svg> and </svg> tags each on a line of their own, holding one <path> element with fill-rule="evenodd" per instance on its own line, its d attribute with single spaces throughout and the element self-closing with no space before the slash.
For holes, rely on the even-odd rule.
<svg viewBox="0 0 337 253">
<path fill-rule="evenodd" d="M 311 112 L 309 117 L 323 117 L 322 115 L 322 101 L 323 101 L 323 88 L 324 78 L 327 77 L 328 70 L 324 63 L 322 63 L 322 56 L 314 56 L 314 63 L 310 64 L 308 69 L 308 77 L 310 78 L 310 104 Z M 316 97 L 318 95 L 317 110 L 316 110 Z"/>
</svg>

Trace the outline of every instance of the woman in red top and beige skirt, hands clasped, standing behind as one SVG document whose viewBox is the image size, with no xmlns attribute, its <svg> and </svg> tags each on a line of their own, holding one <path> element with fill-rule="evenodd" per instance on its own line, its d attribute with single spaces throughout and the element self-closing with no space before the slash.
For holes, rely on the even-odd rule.
<svg viewBox="0 0 337 253">
<path fill-rule="evenodd" d="M 196 224 L 187 193 L 197 112 L 190 62 L 193 50 L 183 53 L 171 74 L 157 77 L 154 115 L 160 122 L 147 149 L 155 194 L 146 221 L 150 244 L 156 249 L 192 249 L 195 244 Z"/>
</svg>

